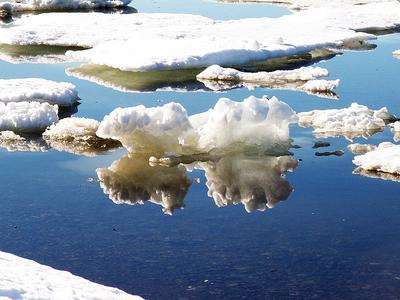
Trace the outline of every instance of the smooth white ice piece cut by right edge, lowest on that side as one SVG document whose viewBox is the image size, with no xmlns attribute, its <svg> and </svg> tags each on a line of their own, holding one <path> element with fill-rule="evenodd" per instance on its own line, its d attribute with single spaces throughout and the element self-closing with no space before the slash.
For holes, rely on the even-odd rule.
<svg viewBox="0 0 400 300">
<path fill-rule="evenodd" d="M 354 157 L 353 163 L 363 170 L 400 175 L 400 145 L 381 143 L 376 150 Z"/>
</svg>

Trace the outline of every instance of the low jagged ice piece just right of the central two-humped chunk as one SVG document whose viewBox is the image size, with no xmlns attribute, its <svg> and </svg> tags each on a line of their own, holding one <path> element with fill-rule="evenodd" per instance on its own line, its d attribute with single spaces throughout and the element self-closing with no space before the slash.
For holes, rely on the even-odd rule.
<svg viewBox="0 0 400 300">
<path fill-rule="evenodd" d="M 318 137 L 343 135 L 350 139 L 382 131 L 385 121 L 392 117 L 386 107 L 374 111 L 357 103 L 343 109 L 302 112 L 298 116 L 300 126 L 314 127 Z"/>
</svg>

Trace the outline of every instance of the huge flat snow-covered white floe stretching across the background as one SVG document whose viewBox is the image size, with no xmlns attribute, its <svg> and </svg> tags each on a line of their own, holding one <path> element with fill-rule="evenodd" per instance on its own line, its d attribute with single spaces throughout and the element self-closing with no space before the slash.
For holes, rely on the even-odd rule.
<svg viewBox="0 0 400 300">
<path fill-rule="evenodd" d="M 229 21 L 183 14 L 50 13 L 0 27 L 0 43 L 90 47 L 67 55 L 121 70 L 180 69 L 242 64 L 344 46 L 375 37 L 360 30 L 395 28 L 399 16 L 398 1 L 313 8 L 277 19 Z"/>
</svg>

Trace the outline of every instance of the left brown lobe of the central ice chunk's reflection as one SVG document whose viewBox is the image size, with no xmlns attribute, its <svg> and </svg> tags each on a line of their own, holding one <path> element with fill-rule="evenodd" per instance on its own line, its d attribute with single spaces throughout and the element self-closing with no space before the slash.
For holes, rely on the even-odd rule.
<svg viewBox="0 0 400 300">
<path fill-rule="evenodd" d="M 183 202 L 192 181 L 183 166 L 149 165 L 149 157 L 126 155 L 108 168 L 97 169 L 105 194 L 116 204 L 161 205 L 166 214 L 184 208 Z"/>
</svg>

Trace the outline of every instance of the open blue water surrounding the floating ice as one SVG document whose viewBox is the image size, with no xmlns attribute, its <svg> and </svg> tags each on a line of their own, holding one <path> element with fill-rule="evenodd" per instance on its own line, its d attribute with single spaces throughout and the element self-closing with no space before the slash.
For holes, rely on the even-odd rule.
<svg viewBox="0 0 400 300">
<path fill-rule="evenodd" d="M 178 1 L 173 1 L 177 3 Z M 214 18 L 269 15 L 271 6 L 211 2 L 137 3 L 138 11 L 193 12 Z M 188 2 L 189 3 L 189 2 Z M 133 5 L 135 6 L 135 5 Z M 178 8 L 177 8 L 178 7 Z M 286 13 L 285 10 L 281 11 Z M 272 11 L 271 16 L 278 12 Z M 70 81 L 82 104 L 78 116 L 102 119 L 118 106 L 177 101 L 189 114 L 220 97 L 277 96 L 296 111 L 387 106 L 400 115 L 400 35 L 380 37 L 373 51 L 345 52 L 317 65 L 341 79 L 340 100 L 258 88 L 226 93 L 123 93 L 68 77 L 72 65 L 0 62 L 0 78 Z M 186 208 L 173 216 L 161 206 L 116 205 L 97 182 L 96 169 L 125 155 L 88 158 L 64 152 L 0 152 L 0 250 L 148 299 L 398 299 L 400 295 L 399 183 L 353 175 L 344 138 L 327 139 L 342 157 L 316 157 L 310 129 L 291 127 L 300 165 L 287 175 L 294 191 L 265 212 L 218 208 L 204 173 L 193 171 Z M 368 143 L 391 141 L 389 131 Z M 355 141 L 362 141 L 356 139 Z"/>
</svg>

